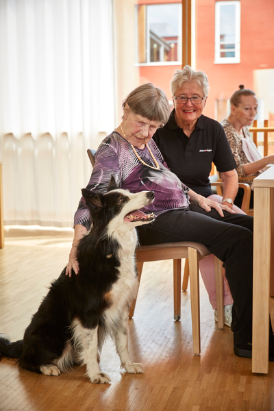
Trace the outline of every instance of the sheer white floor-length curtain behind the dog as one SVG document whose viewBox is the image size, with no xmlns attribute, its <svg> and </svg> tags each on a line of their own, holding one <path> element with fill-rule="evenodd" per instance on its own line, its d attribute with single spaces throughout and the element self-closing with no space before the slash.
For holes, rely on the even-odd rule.
<svg viewBox="0 0 274 411">
<path fill-rule="evenodd" d="M 114 128 L 112 0 L 0 0 L 6 225 L 71 227 Z"/>
</svg>

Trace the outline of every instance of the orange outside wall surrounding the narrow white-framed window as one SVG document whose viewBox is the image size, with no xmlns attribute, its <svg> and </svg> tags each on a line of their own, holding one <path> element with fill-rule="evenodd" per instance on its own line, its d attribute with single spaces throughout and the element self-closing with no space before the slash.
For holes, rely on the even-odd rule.
<svg viewBox="0 0 274 411">
<path fill-rule="evenodd" d="M 239 84 L 253 88 L 253 71 L 274 69 L 274 1 L 241 0 L 240 64 L 214 64 L 214 0 L 196 0 L 196 69 L 208 75 L 204 114 L 214 118 L 215 99 L 229 99 Z"/>
</svg>

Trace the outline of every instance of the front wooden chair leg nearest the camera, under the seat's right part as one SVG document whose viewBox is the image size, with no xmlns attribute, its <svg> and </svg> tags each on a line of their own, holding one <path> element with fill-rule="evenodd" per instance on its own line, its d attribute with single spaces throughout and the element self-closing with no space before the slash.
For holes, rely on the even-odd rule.
<svg viewBox="0 0 274 411">
<path fill-rule="evenodd" d="M 199 297 L 199 258 L 196 249 L 188 248 L 190 300 L 192 317 L 192 340 L 195 354 L 201 352 L 200 336 L 200 297 Z"/>
</svg>

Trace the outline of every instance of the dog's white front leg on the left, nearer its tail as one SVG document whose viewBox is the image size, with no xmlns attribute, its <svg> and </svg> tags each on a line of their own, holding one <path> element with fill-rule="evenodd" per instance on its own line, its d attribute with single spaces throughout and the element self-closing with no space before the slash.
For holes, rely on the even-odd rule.
<svg viewBox="0 0 274 411">
<path fill-rule="evenodd" d="M 98 327 L 85 328 L 75 321 L 75 342 L 79 347 L 79 358 L 86 364 L 86 373 L 93 384 L 107 384 L 108 374 L 101 373 L 98 365 Z"/>
</svg>

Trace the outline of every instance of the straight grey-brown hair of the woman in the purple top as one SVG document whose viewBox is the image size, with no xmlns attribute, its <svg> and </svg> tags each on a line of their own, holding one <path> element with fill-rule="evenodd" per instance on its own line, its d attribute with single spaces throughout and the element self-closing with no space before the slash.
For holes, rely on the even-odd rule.
<svg viewBox="0 0 274 411">
<path fill-rule="evenodd" d="M 129 106 L 134 114 L 159 123 L 163 127 L 169 120 L 171 108 L 164 92 L 152 83 L 142 84 L 134 88 L 123 101 L 122 107 Z"/>
</svg>

